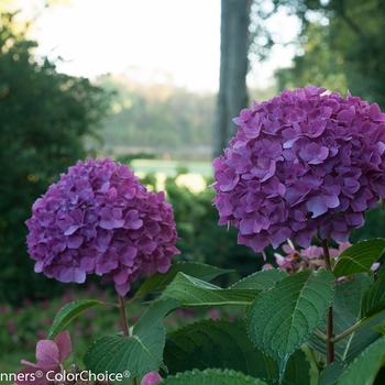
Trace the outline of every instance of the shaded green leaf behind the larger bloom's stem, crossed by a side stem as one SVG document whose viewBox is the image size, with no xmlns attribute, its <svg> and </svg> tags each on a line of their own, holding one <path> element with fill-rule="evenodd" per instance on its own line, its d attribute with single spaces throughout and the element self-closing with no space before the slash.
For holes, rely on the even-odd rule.
<svg viewBox="0 0 385 385">
<path fill-rule="evenodd" d="M 362 298 L 367 286 L 372 283 L 372 277 L 364 274 L 356 274 L 354 279 L 336 285 L 333 298 L 333 330 L 336 336 L 344 332 L 361 320 Z M 373 327 L 384 319 L 385 315 L 380 315 L 344 339 L 338 341 L 334 344 L 336 359 L 348 363 L 354 360 L 363 349 L 381 337 L 378 332 L 373 330 Z M 318 329 L 326 333 L 326 322 L 323 320 L 318 326 Z M 311 336 L 308 344 L 326 355 L 326 343 L 323 340 Z"/>
</svg>

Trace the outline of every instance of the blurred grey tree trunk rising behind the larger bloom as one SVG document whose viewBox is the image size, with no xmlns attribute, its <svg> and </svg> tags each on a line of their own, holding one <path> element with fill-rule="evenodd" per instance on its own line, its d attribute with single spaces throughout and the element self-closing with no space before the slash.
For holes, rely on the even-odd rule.
<svg viewBox="0 0 385 385">
<path fill-rule="evenodd" d="M 237 132 L 232 119 L 248 107 L 250 11 L 252 0 L 221 0 L 221 59 L 213 156 L 223 154 Z"/>
</svg>

